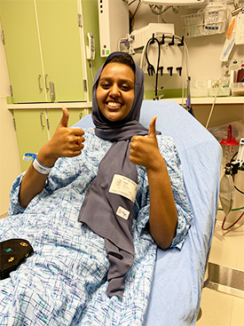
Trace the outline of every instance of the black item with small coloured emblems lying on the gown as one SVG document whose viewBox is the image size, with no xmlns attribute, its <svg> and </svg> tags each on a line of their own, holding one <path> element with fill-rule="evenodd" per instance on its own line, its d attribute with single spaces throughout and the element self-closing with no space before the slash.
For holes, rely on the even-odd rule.
<svg viewBox="0 0 244 326">
<path fill-rule="evenodd" d="M 33 251 L 31 244 L 24 239 L 0 243 L 0 280 L 8 277 Z"/>
</svg>

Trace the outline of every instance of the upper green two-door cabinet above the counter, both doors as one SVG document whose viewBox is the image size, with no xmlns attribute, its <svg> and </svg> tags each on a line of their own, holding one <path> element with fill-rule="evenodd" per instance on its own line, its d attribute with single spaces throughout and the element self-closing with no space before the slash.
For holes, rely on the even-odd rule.
<svg viewBox="0 0 244 326">
<path fill-rule="evenodd" d="M 84 101 L 77 1 L 0 0 L 0 16 L 13 102 Z"/>
</svg>

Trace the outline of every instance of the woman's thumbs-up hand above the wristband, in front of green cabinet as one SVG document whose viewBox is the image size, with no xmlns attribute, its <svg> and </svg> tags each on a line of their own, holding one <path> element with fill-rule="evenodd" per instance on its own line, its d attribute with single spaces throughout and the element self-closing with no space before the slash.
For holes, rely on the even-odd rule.
<svg viewBox="0 0 244 326">
<path fill-rule="evenodd" d="M 38 160 L 45 166 L 52 166 L 59 157 L 73 157 L 81 154 L 84 131 L 79 128 L 67 128 L 68 111 L 62 107 L 63 115 L 59 125 L 49 140 L 39 151 Z"/>
</svg>

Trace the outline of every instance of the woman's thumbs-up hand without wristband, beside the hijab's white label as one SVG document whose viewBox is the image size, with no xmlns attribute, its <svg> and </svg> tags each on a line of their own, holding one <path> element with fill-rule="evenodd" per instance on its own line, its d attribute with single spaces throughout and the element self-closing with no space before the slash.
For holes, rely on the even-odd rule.
<svg viewBox="0 0 244 326">
<path fill-rule="evenodd" d="M 153 116 L 146 137 L 135 135 L 130 142 L 130 162 L 146 169 L 156 168 L 162 160 L 156 138 L 156 119 L 157 115 Z"/>
</svg>

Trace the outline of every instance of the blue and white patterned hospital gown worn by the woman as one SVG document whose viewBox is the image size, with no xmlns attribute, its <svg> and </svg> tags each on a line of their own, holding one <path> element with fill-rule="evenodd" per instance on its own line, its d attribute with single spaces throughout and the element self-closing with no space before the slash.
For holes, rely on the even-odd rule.
<svg viewBox="0 0 244 326">
<path fill-rule="evenodd" d="M 147 228 L 146 170 L 137 167 L 134 265 L 126 275 L 123 298 L 108 298 L 104 239 L 77 218 L 86 190 L 97 175 L 98 163 L 111 143 L 95 136 L 93 129 L 84 131 L 82 155 L 59 158 L 43 191 L 26 209 L 18 203 L 23 174 L 13 183 L 9 217 L 0 219 L 0 241 L 24 238 L 35 252 L 9 278 L 0 281 L 1 326 L 143 324 L 157 249 Z M 157 137 L 178 211 L 177 235 L 171 247 L 180 249 L 192 213 L 174 142 L 169 137 Z"/>
</svg>

